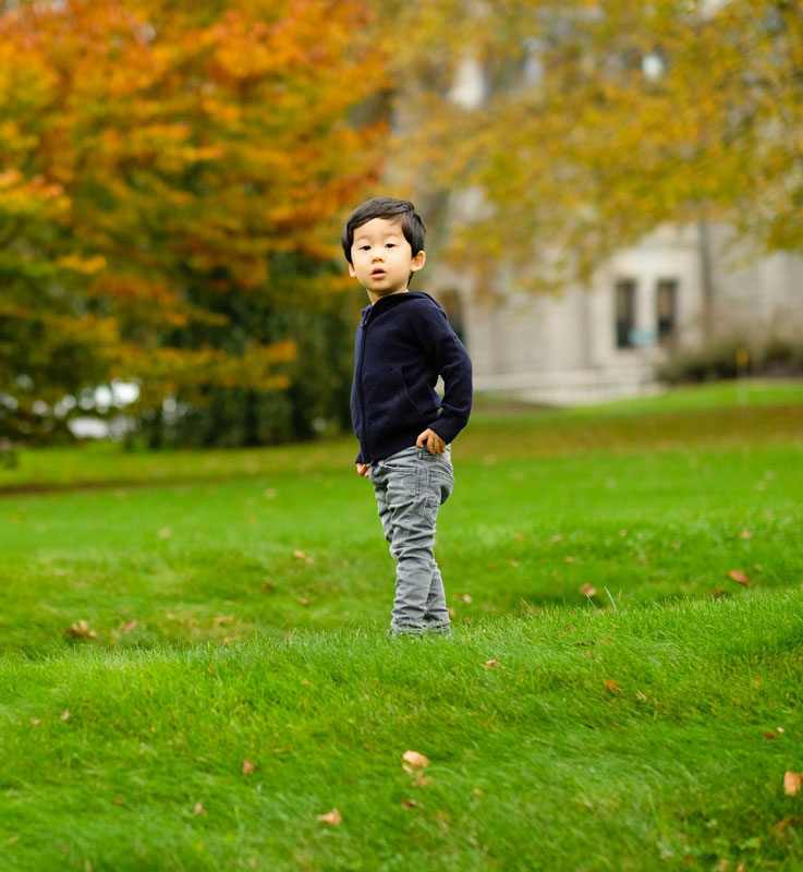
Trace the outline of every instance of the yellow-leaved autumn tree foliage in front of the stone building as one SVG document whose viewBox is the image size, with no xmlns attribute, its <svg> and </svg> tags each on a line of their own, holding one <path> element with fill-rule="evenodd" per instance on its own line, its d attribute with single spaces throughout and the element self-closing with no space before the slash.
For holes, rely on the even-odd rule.
<svg viewBox="0 0 803 872">
<path fill-rule="evenodd" d="M 662 221 L 803 251 L 800 3 L 391 7 L 394 179 L 442 217 L 445 256 L 560 288 Z"/>
</svg>

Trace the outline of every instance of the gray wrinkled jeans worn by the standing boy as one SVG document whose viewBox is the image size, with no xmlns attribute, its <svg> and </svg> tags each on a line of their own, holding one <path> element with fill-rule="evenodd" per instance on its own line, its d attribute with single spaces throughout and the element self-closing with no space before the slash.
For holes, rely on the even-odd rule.
<svg viewBox="0 0 803 872">
<path fill-rule="evenodd" d="M 397 561 L 393 635 L 451 630 L 443 581 L 435 562 L 435 521 L 454 485 L 447 446 L 442 456 L 405 448 L 369 468 L 379 519 Z"/>
</svg>

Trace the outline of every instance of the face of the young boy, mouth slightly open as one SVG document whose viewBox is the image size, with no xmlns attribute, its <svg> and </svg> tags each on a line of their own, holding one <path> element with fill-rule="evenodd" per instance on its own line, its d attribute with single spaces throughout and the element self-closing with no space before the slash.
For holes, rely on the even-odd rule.
<svg viewBox="0 0 803 872">
<path fill-rule="evenodd" d="M 349 275 L 376 303 L 381 296 L 406 291 L 410 274 L 417 272 L 425 259 L 423 251 L 413 257 L 400 220 L 372 218 L 354 231 Z"/>
</svg>

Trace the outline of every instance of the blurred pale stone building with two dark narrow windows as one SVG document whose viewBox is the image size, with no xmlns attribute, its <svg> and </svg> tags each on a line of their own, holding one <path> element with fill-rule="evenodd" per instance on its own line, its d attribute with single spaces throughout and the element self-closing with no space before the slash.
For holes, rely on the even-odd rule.
<svg viewBox="0 0 803 872">
<path fill-rule="evenodd" d="M 479 293 L 449 268 L 433 292 L 474 361 L 477 390 L 571 404 L 659 389 L 656 367 L 709 339 L 803 334 L 803 257 L 749 259 L 726 227 L 667 225 L 560 295 Z"/>
</svg>

